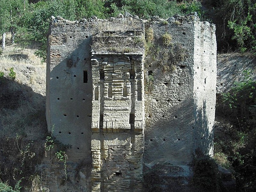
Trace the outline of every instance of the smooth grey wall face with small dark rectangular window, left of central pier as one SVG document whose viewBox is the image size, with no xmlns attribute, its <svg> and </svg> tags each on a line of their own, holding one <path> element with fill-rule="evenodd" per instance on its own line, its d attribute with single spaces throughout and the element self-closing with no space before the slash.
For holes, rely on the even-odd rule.
<svg viewBox="0 0 256 192">
<path fill-rule="evenodd" d="M 73 162 L 84 158 L 91 161 L 90 33 L 84 27 L 52 26 L 48 40 L 48 131 L 61 143 L 72 146 L 68 155 Z"/>
</svg>

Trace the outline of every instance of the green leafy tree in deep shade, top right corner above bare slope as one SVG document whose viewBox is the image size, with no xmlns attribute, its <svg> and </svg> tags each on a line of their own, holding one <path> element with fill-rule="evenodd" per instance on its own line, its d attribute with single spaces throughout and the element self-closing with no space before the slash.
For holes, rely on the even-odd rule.
<svg viewBox="0 0 256 192">
<path fill-rule="evenodd" d="M 212 20 L 217 25 L 218 49 L 230 46 L 240 52 L 256 50 L 255 0 L 209 0 L 213 6 Z M 222 50 L 219 50 L 222 51 Z"/>
</svg>

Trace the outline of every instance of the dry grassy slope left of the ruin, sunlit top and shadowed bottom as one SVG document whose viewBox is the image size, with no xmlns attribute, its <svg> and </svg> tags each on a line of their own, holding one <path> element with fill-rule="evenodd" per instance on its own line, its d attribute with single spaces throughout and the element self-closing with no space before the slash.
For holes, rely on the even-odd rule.
<svg viewBox="0 0 256 192">
<path fill-rule="evenodd" d="M 44 154 L 47 134 L 46 64 L 34 51 L 7 44 L 0 56 L 0 72 L 4 75 L 0 77 L 0 181 L 8 181 L 14 187 L 20 180 L 20 185 L 33 192 L 40 191 L 34 190 L 35 179 L 31 178 Z M 32 188 L 30 180 L 34 183 Z"/>
</svg>

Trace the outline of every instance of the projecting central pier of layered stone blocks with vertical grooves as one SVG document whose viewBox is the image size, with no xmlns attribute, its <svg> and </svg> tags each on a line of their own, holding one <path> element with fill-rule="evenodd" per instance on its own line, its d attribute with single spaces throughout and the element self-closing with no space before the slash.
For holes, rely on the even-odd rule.
<svg viewBox="0 0 256 192">
<path fill-rule="evenodd" d="M 92 57 L 92 191 L 142 190 L 143 76 L 142 55 Z"/>
</svg>

